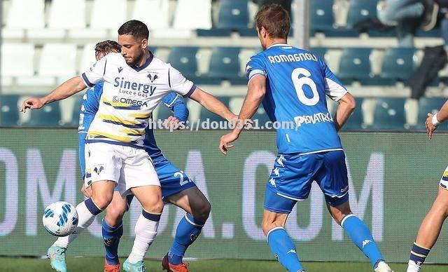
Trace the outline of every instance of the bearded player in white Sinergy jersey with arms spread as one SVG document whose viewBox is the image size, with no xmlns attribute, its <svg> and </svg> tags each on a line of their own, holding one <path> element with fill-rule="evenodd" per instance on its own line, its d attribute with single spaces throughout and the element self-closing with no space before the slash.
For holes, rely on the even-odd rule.
<svg viewBox="0 0 448 272">
<path fill-rule="evenodd" d="M 148 27 L 131 20 L 118 29 L 121 53 L 109 53 L 81 76 L 62 83 L 45 97 L 31 97 L 20 111 L 41 109 L 63 100 L 87 86 L 104 81 L 97 114 L 87 132 L 86 168 L 92 169 L 92 195 L 76 206 L 79 221 L 66 243 L 92 224 L 94 217 L 111 203 L 118 186 L 123 198 L 132 193 L 143 210 L 135 225 L 135 240 L 124 271 L 146 271 L 143 264 L 149 245 L 157 235 L 163 210 L 158 175 L 143 149 L 149 118 L 162 98 L 174 91 L 199 102 L 222 118 L 235 120 L 235 114 L 213 95 L 197 88 L 171 65 L 148 50 Z"/>
</svg>

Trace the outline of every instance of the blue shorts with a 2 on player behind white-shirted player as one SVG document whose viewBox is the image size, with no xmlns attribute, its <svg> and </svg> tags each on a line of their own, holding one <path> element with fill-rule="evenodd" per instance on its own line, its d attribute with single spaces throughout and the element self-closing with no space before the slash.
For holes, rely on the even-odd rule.
<svg viewBox="0 0 448 272">
<path fill-rule="evenodd" d="M 155 172 L 160 180 L 162 186 L 162 197 L 167 198 L 176 193 L 180 193 L 196 184 L 183 171 L 176 168 L 174 164 L 170 163 L 167 158 L 160 156 L 153 161 Z M 115 188 L 118 191 L 118 188 Z M 130 201 L 128 200 L 128 204 Z"/>
</svg>

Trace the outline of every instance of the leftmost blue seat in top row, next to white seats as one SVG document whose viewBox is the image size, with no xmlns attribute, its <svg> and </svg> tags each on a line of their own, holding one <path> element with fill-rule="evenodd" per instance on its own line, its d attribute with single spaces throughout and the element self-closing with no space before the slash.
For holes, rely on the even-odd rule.
<svg viewBox="0 0 448 272">
<path fill-rule="evenodd" d="M 247 0 L 219 1 L 218 29 L 248 28 L 249 13 Z"/>
</svg>

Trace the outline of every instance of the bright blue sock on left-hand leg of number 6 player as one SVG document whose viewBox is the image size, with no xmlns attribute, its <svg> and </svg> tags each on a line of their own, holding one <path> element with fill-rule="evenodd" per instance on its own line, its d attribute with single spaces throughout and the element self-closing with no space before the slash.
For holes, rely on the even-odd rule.
<svg viewBox="0 0 448 272">
<path fill-rule="evenodd" d="M 288 271 L 297 272 L 303 270 L 302 264 L 300 264 L 299 258 L 297 257 L 295 245 L 285 229 L 281 227 L 271 229 L 267 233 L 267 243 L 276 259 Z"/>
</svg>

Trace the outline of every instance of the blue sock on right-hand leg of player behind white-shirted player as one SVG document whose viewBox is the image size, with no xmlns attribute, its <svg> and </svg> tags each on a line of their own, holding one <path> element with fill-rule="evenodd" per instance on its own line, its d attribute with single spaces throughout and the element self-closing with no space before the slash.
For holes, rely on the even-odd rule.
<svg viewBox="0 0 448 272">
<path fill-rule="evenodd" d="M 181 219 L 176 229 L 176 237 L 174 237 L 173 244 L 168 252 L 170 264 L 182 264 L 183 255 L 187 248 L 195 242 L 197 236 L 200 235 L 204 224 L 205 222 L 201 222 L 188 214 Z"/>
</svg>

